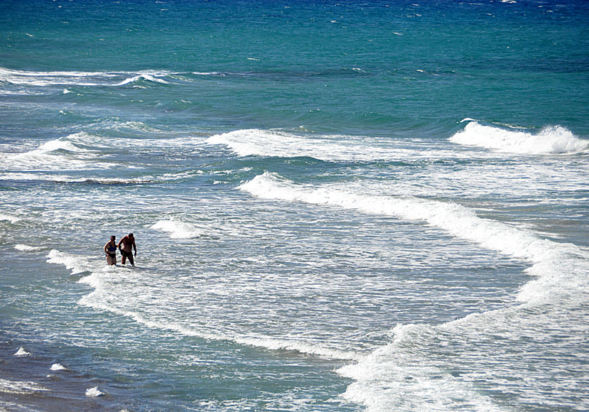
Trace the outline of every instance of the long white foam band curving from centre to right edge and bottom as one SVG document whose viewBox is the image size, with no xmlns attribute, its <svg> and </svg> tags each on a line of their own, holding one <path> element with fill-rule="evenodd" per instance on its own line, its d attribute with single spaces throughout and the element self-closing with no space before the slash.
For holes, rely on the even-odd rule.
<svg viewBox="0 0 589 412">
<path fill-rule="evenodd" d="M 518 299 L 529 305 L 568 300 L 573 294 L 589 293 L 589 256 L 573 244 L 541 239 L 532 232 L 502 222 L 477 217 L 475 212 L 453 203 L 418 199 L 365 195 L 341 188 L 296 185 L 274 173 L 264 173 L 242 190 L 257 197 L 343 207 L 361 212 L 427 222 L 460 239 L 485 246 L 509 256 L 530 261 L 528 271 L 536 276 L 519 292 Z M 524 304 L 522 304 L 523 306 Z M 445 332 L 450 335 L 470 330 L 473 325 L 502 325 L 505 317 L 520 306 L 469 315 L 463 320 L 439 326 L 398 325 L 394 339 L 362 358 L 356 364 L 338 370 L 355 379 L 344 396 L 361 403 L 370 412 L 394 410 L 446 411 L 466 402 L 471 411 L 500 411 L 489 399 L 477 393 L 467 382 L 428 363 L 415 349 L 433 342 Z M 457 329 L 458 328 L 458 329 Z M 460 332 L 462 330 L 462 332 Z"/>
</svg>

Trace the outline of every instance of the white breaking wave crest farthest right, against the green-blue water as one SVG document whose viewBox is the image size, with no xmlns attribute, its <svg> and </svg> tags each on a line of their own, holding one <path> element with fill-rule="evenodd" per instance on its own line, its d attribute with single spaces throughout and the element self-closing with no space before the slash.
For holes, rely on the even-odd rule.
<svg viewBox="0 0 589 412">
<path fill-rule="evenodd" d="M 538 134 L 485 126 L 472 119 L 465 128 L 450 137 L 453 143 L 490 148 L 505 153 L 556 154 L 589 149 L 589 141 L 579 139 L 562 126 L 542 129 Z"/>
</svg>

